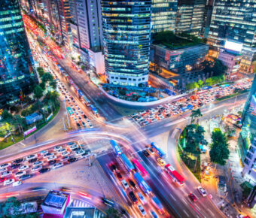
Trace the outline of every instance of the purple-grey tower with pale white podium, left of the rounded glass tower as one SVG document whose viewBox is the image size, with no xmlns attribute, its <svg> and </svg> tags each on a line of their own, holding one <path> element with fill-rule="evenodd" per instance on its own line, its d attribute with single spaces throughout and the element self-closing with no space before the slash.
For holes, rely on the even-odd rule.
<svg viewBox="0 0 256 218">
<path fill-rule="evenodd" d="M 97 74 L 105 73 L 100 0 L 70 0 L 73 48 Z"/>
</svg>

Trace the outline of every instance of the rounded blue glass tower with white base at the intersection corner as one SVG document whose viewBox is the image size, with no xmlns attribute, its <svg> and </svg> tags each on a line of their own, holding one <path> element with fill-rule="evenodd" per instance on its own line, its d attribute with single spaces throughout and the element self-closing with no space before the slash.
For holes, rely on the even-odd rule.
<svg viewBox="0 0 256 218">
<path fill-rule="evenodd" d="M 108 83 L 145 86 L 151 41 L 151 0 L 102 0 L 105 71 Z"/>
</svg>

